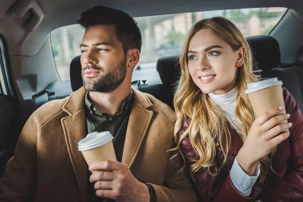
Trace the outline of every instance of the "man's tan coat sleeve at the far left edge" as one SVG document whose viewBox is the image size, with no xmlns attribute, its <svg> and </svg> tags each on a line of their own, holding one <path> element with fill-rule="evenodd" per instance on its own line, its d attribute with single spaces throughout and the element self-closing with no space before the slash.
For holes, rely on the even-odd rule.
<svg viewBox="0 0 303 202">
<path fill-rule="evenodd" d="M 34 201 L 36 194 L 37 124 L 31 116 L 18 139 L 15 155 L 0 180 L 0 201 Z"/>
</svg>

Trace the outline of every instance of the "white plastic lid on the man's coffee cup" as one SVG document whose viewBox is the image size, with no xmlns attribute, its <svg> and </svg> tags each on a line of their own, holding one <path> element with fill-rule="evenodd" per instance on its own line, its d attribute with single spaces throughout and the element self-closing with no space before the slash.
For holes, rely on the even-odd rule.
<svg viewBox="0 0 303 202">
<path fill-rule="evenodd" d="M 114 137 L 109 131 L 92 132 L 78 142 L 78 149 L 79 151 L 89 150 L 106 144 L 113 139 Z"/>
</svg>

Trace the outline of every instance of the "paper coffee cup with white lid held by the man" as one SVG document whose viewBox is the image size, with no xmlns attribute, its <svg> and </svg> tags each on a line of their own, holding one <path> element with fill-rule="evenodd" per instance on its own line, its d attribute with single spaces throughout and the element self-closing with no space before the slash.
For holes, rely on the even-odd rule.
<svg viewBox="0 0 303 202">
<path fill-rule="evenodd" d="M 113 139 L 109 131 L 92 132 L 78 142 L 78 149 L 88 166 L 100 161 L 117 161 Z"/>
</svg>

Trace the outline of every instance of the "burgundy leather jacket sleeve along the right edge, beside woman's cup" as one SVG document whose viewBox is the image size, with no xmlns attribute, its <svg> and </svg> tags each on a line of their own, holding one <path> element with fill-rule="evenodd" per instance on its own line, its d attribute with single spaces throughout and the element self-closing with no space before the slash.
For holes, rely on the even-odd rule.
<svg viewBox="0 0 303 202">
<path fill-rule="evenodd" d="M 283 88 L 286 113 L 292 123 L 290 128 L 290 154 L 293 171 L 284 176 L 261 198 L 263 201 L 301 201 L 303 198 L 303 113 L 292 95 Z"/>
</svg>

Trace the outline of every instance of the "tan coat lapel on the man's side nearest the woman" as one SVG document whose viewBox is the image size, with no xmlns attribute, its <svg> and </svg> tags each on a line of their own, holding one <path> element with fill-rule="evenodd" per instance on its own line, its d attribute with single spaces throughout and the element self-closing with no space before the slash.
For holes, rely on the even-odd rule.
<svg viewBox="0 0 303 202">
<path fill-rule="evenodd" d="M 131 168 L 134 163 L 154 114 L 152 111 L 146 110 L 146 108 L 152 106 L 149 99 L 134 88 L 132 88 L 132 91 L 134 93 L 134 104 L 129 116 L 122 155 L 122 163 L 126 164 L 128 168 Z"/>
</svg>

